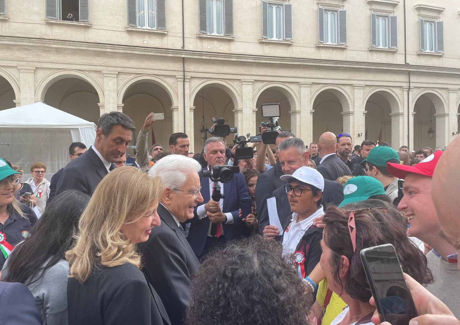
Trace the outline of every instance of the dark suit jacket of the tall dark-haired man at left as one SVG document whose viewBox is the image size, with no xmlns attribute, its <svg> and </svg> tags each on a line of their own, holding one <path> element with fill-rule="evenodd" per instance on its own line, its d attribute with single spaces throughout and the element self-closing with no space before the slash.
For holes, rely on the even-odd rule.
<svg viewBox="0 0 460 325">
<path fill-rule="evenodd" d="M 64 167 L 59 182 L 57 183 L 56 195 L 66 189 L 76 189 L 88 195 L 92 195 L 94 189 L 109 172 L 102 160 L 93 148 L 89 148 L 78 159 L 74 159 Z"/>
</svg>

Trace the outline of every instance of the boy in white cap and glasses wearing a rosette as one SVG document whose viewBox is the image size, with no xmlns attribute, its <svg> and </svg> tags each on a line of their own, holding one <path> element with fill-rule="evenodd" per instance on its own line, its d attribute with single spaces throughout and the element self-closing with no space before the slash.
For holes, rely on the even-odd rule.
<svg viewBox="0 0 460 325">
<path fill-rule="evenodd" d="M 324 214 L 321 205 L 324 179 L 316 169 L 306 166 L 280 179 L 288 182 L 286 192 L 293 211 L 292 221 L 282 236 L 283 255 L 293 258 L 299 277 L 305 279 L 307 287 L 313 292 L 316 285 L 308 275 L 321 257 L 322 229 L 312 225 L 315 218 Z M 263 233 L 266 239 L 274 239 L 280 234 L 272 225 L 265 226 Z"/>
</svg>

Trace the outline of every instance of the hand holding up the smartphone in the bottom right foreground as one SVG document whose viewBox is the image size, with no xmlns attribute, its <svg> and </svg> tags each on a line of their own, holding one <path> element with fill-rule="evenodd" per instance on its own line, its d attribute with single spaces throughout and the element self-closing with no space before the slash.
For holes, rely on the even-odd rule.
<svg viewBox="0 0 460 325">
<path fill-rule="evenodd" d="M 456 319 L 449 308 L 436 296 L 433 296 L 420 283 L 412 279 L 408 274 L 404 274 L 410 294 L 414 300 L 415 308 L 421 316 L 411 319 L 409 324 L 418 325 L 459 325 L 460 320 Z M 369 303 L 375 306 L 374 297 Z M 390 325 L 388 322 L 380 323 L 379 312 L 376 310 L 372 316 L 374 324 Z"/>
</svg>

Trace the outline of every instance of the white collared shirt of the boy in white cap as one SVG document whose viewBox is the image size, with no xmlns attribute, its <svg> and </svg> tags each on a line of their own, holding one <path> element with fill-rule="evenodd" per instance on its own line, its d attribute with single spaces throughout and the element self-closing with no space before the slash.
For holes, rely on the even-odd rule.
<svg viewBox="0 0 460 325">
<path fill-rule="evenodd" d="M 292 222 L 289 224 L 288 228 L 284 231 L 283 236 L 283 255 L 288 256 L 292 255 L 299 245 L 300 240 L 307 232 L 308 228 L 313 224 L 313 220 L 317 217 L 321 217 L 324 214 L 322 205 L 319 206 L 318 210 L 313 213 L 310 217 L 297 222 L 298 215 L 293 213 Z"/>
</svg>

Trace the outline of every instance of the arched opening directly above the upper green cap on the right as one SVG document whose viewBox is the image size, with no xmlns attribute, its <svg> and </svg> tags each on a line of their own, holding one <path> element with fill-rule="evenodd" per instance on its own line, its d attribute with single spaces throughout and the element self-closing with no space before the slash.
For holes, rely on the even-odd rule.
<svg viewBox="0 0 460 325">
<path fill-rule="evenodd" d="M 391 104 L 388 92 L 374 92 L 367 100 L 364 139 L 375 143 L 385 141 L 391 146 Z"/>
</svg>

